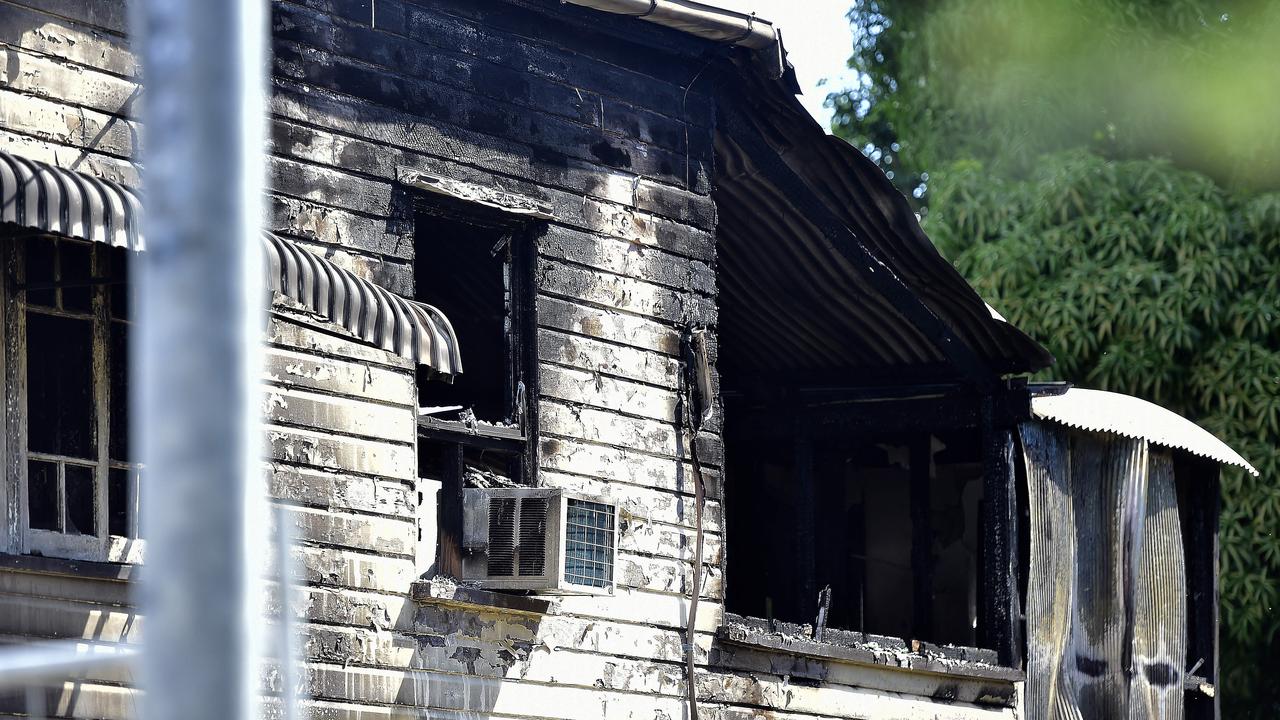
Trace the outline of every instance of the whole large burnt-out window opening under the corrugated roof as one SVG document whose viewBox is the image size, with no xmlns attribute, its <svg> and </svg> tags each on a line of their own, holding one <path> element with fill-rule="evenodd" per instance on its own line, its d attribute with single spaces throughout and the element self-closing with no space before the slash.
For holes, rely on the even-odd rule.
<svg viewBox="0 0 1280 720">
<path fill-rule="evenodd" d="M 982 398 L 777 388 L 724 366 L 726 610 L 996 662 L 1010 632 L 991 621 L 986 564 L 1010 528 L 988 528 L 984 506 L 1009 466 L 984 450 L 1002 436 Z"/>
</svg>

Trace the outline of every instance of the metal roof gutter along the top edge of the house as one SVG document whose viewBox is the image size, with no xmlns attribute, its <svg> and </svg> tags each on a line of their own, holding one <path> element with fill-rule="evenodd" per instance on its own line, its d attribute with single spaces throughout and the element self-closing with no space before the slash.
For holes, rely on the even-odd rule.
<svg viewBox="0 0 1280 720">
<path fill-rule="evenodd" d="M 758 18 L 754 13 L 744 14 L 723 8 L 716 8 L 694 0 L 561 0 L 584 8 L 593 8 L 617 15 L 643 18 L 680 32 L 748 47 L 768 56 L 769 65 L 781 77 L 786 70 L 782 51 L 782 32 L 773 23 Z"/>
</svg>

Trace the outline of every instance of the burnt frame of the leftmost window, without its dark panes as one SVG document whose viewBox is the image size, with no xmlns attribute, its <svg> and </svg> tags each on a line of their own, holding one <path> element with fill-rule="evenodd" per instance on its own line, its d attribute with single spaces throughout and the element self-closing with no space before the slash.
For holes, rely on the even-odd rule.
<svg viewBox="0 0 1280 720">
<path fill-rule="evenodd" d="M 88 277 L 74 282 L 64 282 L 54 277 L 52 282 L 27 283 L 27 254 L 33 243 L 50 243 L 55 247 L 76 246 L 87 250 Z M 56 251 L 51 251 L 54 256 Z M 113 416 L 120 415 L 128 398 L 111 397 L 111 360 L 116 356 L 111 348 L 111 331 L 115 324 L 134 327 L 132 313 L 132 293 L 128 284 L 129 252 L 101 242 L 91 242 L 51 234 L 41 231 L 3 227 L 0 228 L 0 304 L 3 304 L 4 341 L 4 391 L 5 391 L 5 523 L 9 537 L 4 551 L 14 555 L 40 555 L 64 560 L 93 562 L 142 562 L 146 541 L 140 536 L 138 486 L 142 466 L 136 460 L 136 447 L 129 450 L 132 459 L 113 457 Z M 116 266 L 119 265 L 119 266 Z M 52 270 L 50 270 L 52 273 Z M 60 297 L 64 288 L 87 288 L 90 309 L 67 309 L 59 300 L 52 306 L 44 302 L 31 302 L 28 292 L 52 292 Z M 120 296 L 123 305 L 114 302 L 113 295 Z M 93 406 L 91 446 L 95 457 L 76 457 L 56 452 L 33 451 L 28 437 L 29 401 L 27 387 L 29 345 L 27 337 L 29 314 L 77 319 L 90 323 L 92 388 L 90 402 Z M 123 357 L 128 357 L 128 336 L 124 337 Z M 127 373 L 127 369 L 125 369 Z M 128 379 L 125 374 L 125 386 Z M 127 418 L 127 415 L 125 415 Z M 127 419 L 125 419 L 127 421 Z M 128 429 L 125 428 L 125 433 Z M 136 445 L 136 443 L 134 443 Z M 49 462 L 55 468 L 58 478 L 59 524 L 67 516 L 63 484 L 65 466 L 88 468 L 92 470 L 93 533 L 74 534 L 63 529 L 32 528 L 29 502 L 31 462 Z M 124 471 L 124 497 L 132 509 L 125 518 L 124 534 L 115 534 L 111 520 L 113 474 Z"/>
</svg>

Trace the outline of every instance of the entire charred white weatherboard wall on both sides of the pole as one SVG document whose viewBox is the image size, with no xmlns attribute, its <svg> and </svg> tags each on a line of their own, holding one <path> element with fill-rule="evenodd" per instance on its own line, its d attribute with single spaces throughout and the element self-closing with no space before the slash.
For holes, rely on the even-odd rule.
<svg viewBox="0 0 1280 720">
<path fill-rule="evenodd" d="M 124 23 L 122 0 L 0 0 L 0 147 L 134 184 L 140 91 Z M 716 119 L 710 88 L 689 85 L 709 49 L 553 0 L 276 1 L 271 29 L 268 222 L 279 234 L 412 295 L 401 168 L 550 208 L 535 268 L 539 482 L 622 509 L 612 597 L 526 612 L 415 596 L 434 509 L 429 495 L 419 502 L 412 368 L 276 306 L 268 473 L 308 583 L 294 610 L 312 716 L 685 716 L 695 438 L 678 416 L 680 333 L 716 323 Z M 721 448 L 716 433 L 698 441 L 704 717 L 1012 715 L 975 705 L 980 683 L 883 669 L 892 653 L 877 669 L 726 644 Z M 0 568 L 0 632 L 137 639 L 124 588 Z M 50 705 L 60 714 L 132 714 L 124 678 L 64 691 L 74 702 Z"/>
</svg>

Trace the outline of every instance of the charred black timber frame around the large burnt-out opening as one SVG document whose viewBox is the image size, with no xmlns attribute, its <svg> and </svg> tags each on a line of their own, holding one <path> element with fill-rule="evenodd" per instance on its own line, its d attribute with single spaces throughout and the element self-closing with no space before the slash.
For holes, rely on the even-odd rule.
<svg viewBox="0 0 1280 720">
<path fill-rule="evenodd" d="M 815 397 L 822 398 L 822 402 L 810 405 L 801 400 L 803 396 L 814 393 Z M 737 388 L 727 391 L 726 395 L 741 397 L 741 392 Z M 841 397 L 841 395 L 845 397 Z M 731 397 L 726 400 L 731 400 Z M 842 409 L 838 407 L 841 400 L 846 402 Z M 1021 464 L 1015 457 L 1015 454 L 1018 452 L 1016 424 L 1029 418 L 1030 413 L 1030 400 L 1025 380 L 1010 380 L 992 395 L 977 395 L 959 386 L 936 383 L 882 387 L 823 387 L 820 389 L 813 387 L 791 387 L 781 389 L 780 395 L 773 397 L 769 404 L 773 407 L 759 413 L 756 423 L 762 427 L 785 428 L 782 430 L 768 432 L 772 432 L 774 437 L 788 438 L 787 442 L 790 445 L 787 447 L 797 457 L 812 457 L 812 452 L 805 454 L 803 451 L 805 442 L 813 443 L 820 437 L 829 438 L 833 433 L 878 434 L 887 430 L 891 433 L 924 433 L 928 436 L 936 432 L 959 429 L 975 430 L 978 433 L 979 442 L 982 443 L 979 448 L 982 501 L 978 509 L 980 544 L 978 566 L 975 568 L 975 579 L 980 585 L 977 607 L 979 623 L 977 628 L 978 643 L 974 646 L 941 646 L 929 638 L 897 638 L 877 634 L 876 628 L 819 625 L 818 619 L 819 616 L 826 616 L 826 612 L 819 614 L 819 596 L 817 592 L 819 588 L 817 587 L 817 582 L 814 582 L 813 593 L 813 618 L 797 618 L 788 623 L 792 619 L 740 615 L 732 610 L 732 601 L 730 600 L 733 592 L 733 569 L 728 566 L 728 557 L 733 556 L 732 548 L 727 548 L 730 552 L 721 561 L 728 618 L 728 625 L 722 628 L 721 634 L 726 635 L 726 638 L 732 638 L 736 632 L 735 624 L 740 625 L 744 623 L 746 625 L 763 624 L 762 626 L 768 628 L 806 626 L 812 628 L 812 634 L 817 644 L 826 643 L 831 644 L 832 648 L 876 644 L 882 647 L 901 647 L 904 651 L 914 653 L 934 653 L 951 660 L 959 660 L 959 662 L 951 664 L 948 671 L 959 675 L 973 675 L 975 678 L 987 676 L 989 674 L 988 667 L 1021 673 L 1024 665 L 1025 619 L 1023 607 L 1025 607 L 1025 600 L 1019 589 L 1024 588 L 1027 565 L 1025 560 L 1018 556 L 1018 548 L 1021 525 L 1019 502 L 1025 503 L 1025 498 L 1020 496 L 1021 491 L 1019 486 L 1023 480 L 1019 469 Z M 735 489 L 739 492 L 745 489 L 735 483 L 731 457 L 735 451 L 733 441 L 740 438 L 735 438 L 735 433 L 728 430 L 728 427 L 741 423 L 744 416 L 751 415 L 740 409 L 731 409 L 728 405 L 726 402 L 727 407 L 724 411 L 724 424 L 727 428 L 724 438 L 726 495 L 735 492 Z M 768 434 L 768 432 L 764 434 Z M 754 433 L 753 439 L 760 439 L 760 436 L 762 433 Z M 813 478 L 809 478 L 808 482 L 800 478 L 800 466 L 794 471 L 796 477 L 792 477 L 792 482 L 796 492 L 808 492 L 810 505 L 820 502 Z M 911 480 L 918 482 L 914 477 Z M 914 496 L 914 493 L 911 495 Z M 925 501 L 928 501 L 927 497 Z M 736 534 L 735 518 L 728 515 L 731 502 L 732 500 L 726 500 L 726 543 L 732 543 L 733 541 L 728 538 Z M 922 511 L 925 515 L 928 514 L 928 510 L 922 509 L 914 497 L 910 511 L 913 514 Z M 797 503 L 799 512 L 805 512 L 805 509 Z M 786 524 L 780 524 L 780 529 L 786 528 L 788 532 L 805 534 L 805 530 L 800 529 L 799 516 L 788 520 Z M 814 550 L 809 551 L 808 555 L 815 555 L 817 546 L 823 541 L 819 530 L 820 528 L 812 528 L 806 532 L 809 542 L 814 546 Z M 932 543 L 932 528 L 913 525 L 911 536 L 909 544 L 911 544 L 914 566 L 914 561 L 918 559 L 914 547 L 915 542 L 924 539 Z M 741 548 L 737 552 L 741 555 Z M 998 573 L 997 569 L 1002 566 L 1007 568 L 1009 573 Z M 740 570 L 740 568 L 737 569 Z M 932 565 L 927 575 L 922 578 L 919 573 L 914 573 L 913 579 L 915 583 L 911 592 L 916 596 L 916 602 L 922 597 L 922 593 L 932 596 Z M 919 621 L 920 619 L 916 615 L 913 619 L 913 625 L 918 625 Z M 914 632 L 913 629 L 913 634 Z M 750 637 L 753 633 L 748 633 L 748 635 Z M 739 642 L 753 646 L 758 644 L 753 639 Z M 840 651 L 833 650 L 833 652 L 838 655 Z M 1001 678 L 1009 679 L 1005 676 Z"/>
</svg>

